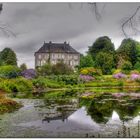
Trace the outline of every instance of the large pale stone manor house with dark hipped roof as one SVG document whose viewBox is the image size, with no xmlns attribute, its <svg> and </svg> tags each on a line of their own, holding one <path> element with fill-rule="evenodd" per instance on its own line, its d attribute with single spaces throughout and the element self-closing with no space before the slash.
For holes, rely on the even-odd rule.
<svg viewBox="0 0 140 140">
<path fill-rule="evenodd" d="M 71 68 L 79 65 L 80 53 L 73 49 L 69 43 L 49 43 L 43 44 L 43 46 L 35 52 L 35 67 L 42 66 L 48 62 L 56 64 L 63 61 Z"/>
</svg>

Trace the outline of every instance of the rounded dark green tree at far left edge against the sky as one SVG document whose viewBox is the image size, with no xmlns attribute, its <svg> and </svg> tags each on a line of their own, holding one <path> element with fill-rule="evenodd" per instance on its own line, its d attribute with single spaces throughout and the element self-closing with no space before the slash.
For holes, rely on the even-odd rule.
<svg viewBox="0 0 140 140">
<path fill-rule="evenodd" d="M 5 48 L 1 51 L 0 65 L 17 65 L 17 57 L 12 49 Z"/>
</svg>

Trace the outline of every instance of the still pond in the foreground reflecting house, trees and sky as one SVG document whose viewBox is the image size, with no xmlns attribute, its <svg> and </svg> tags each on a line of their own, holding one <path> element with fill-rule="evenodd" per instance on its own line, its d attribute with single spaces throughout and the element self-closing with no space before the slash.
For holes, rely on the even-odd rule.
<svg viewBox="0 0 140 140">
<path fill-rule="evenodd" d="M 0 137 L 140 137 L 139 93 L 129 95 L 16 98 L 23 107 L 0 115 Z"/>
</svg>

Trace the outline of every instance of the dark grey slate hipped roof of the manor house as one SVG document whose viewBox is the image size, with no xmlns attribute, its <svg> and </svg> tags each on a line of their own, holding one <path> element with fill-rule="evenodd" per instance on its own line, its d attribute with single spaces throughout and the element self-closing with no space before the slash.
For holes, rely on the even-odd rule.
<svg viewBox="0 0 140 140">
<path fill-rule="evenodd" d="M 73 49 L 68 43 L 45 43 L 43 46 L 35 53 L 74 53 L 79 54 L 75 49 Z"/>
</svg>

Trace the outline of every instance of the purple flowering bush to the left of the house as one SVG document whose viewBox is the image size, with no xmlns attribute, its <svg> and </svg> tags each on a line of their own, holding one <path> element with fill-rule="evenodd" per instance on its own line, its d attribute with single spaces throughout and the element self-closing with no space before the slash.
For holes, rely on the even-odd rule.
<svg viewBox="0 0 140 140">
<path fill-rule="evenodd" d="M 35 78 L 36 71 L 34 69 L 27 69 L 21 72 L 21 76 L 27 79 L 32 79 L 32 78 Z"/>
</svg>

